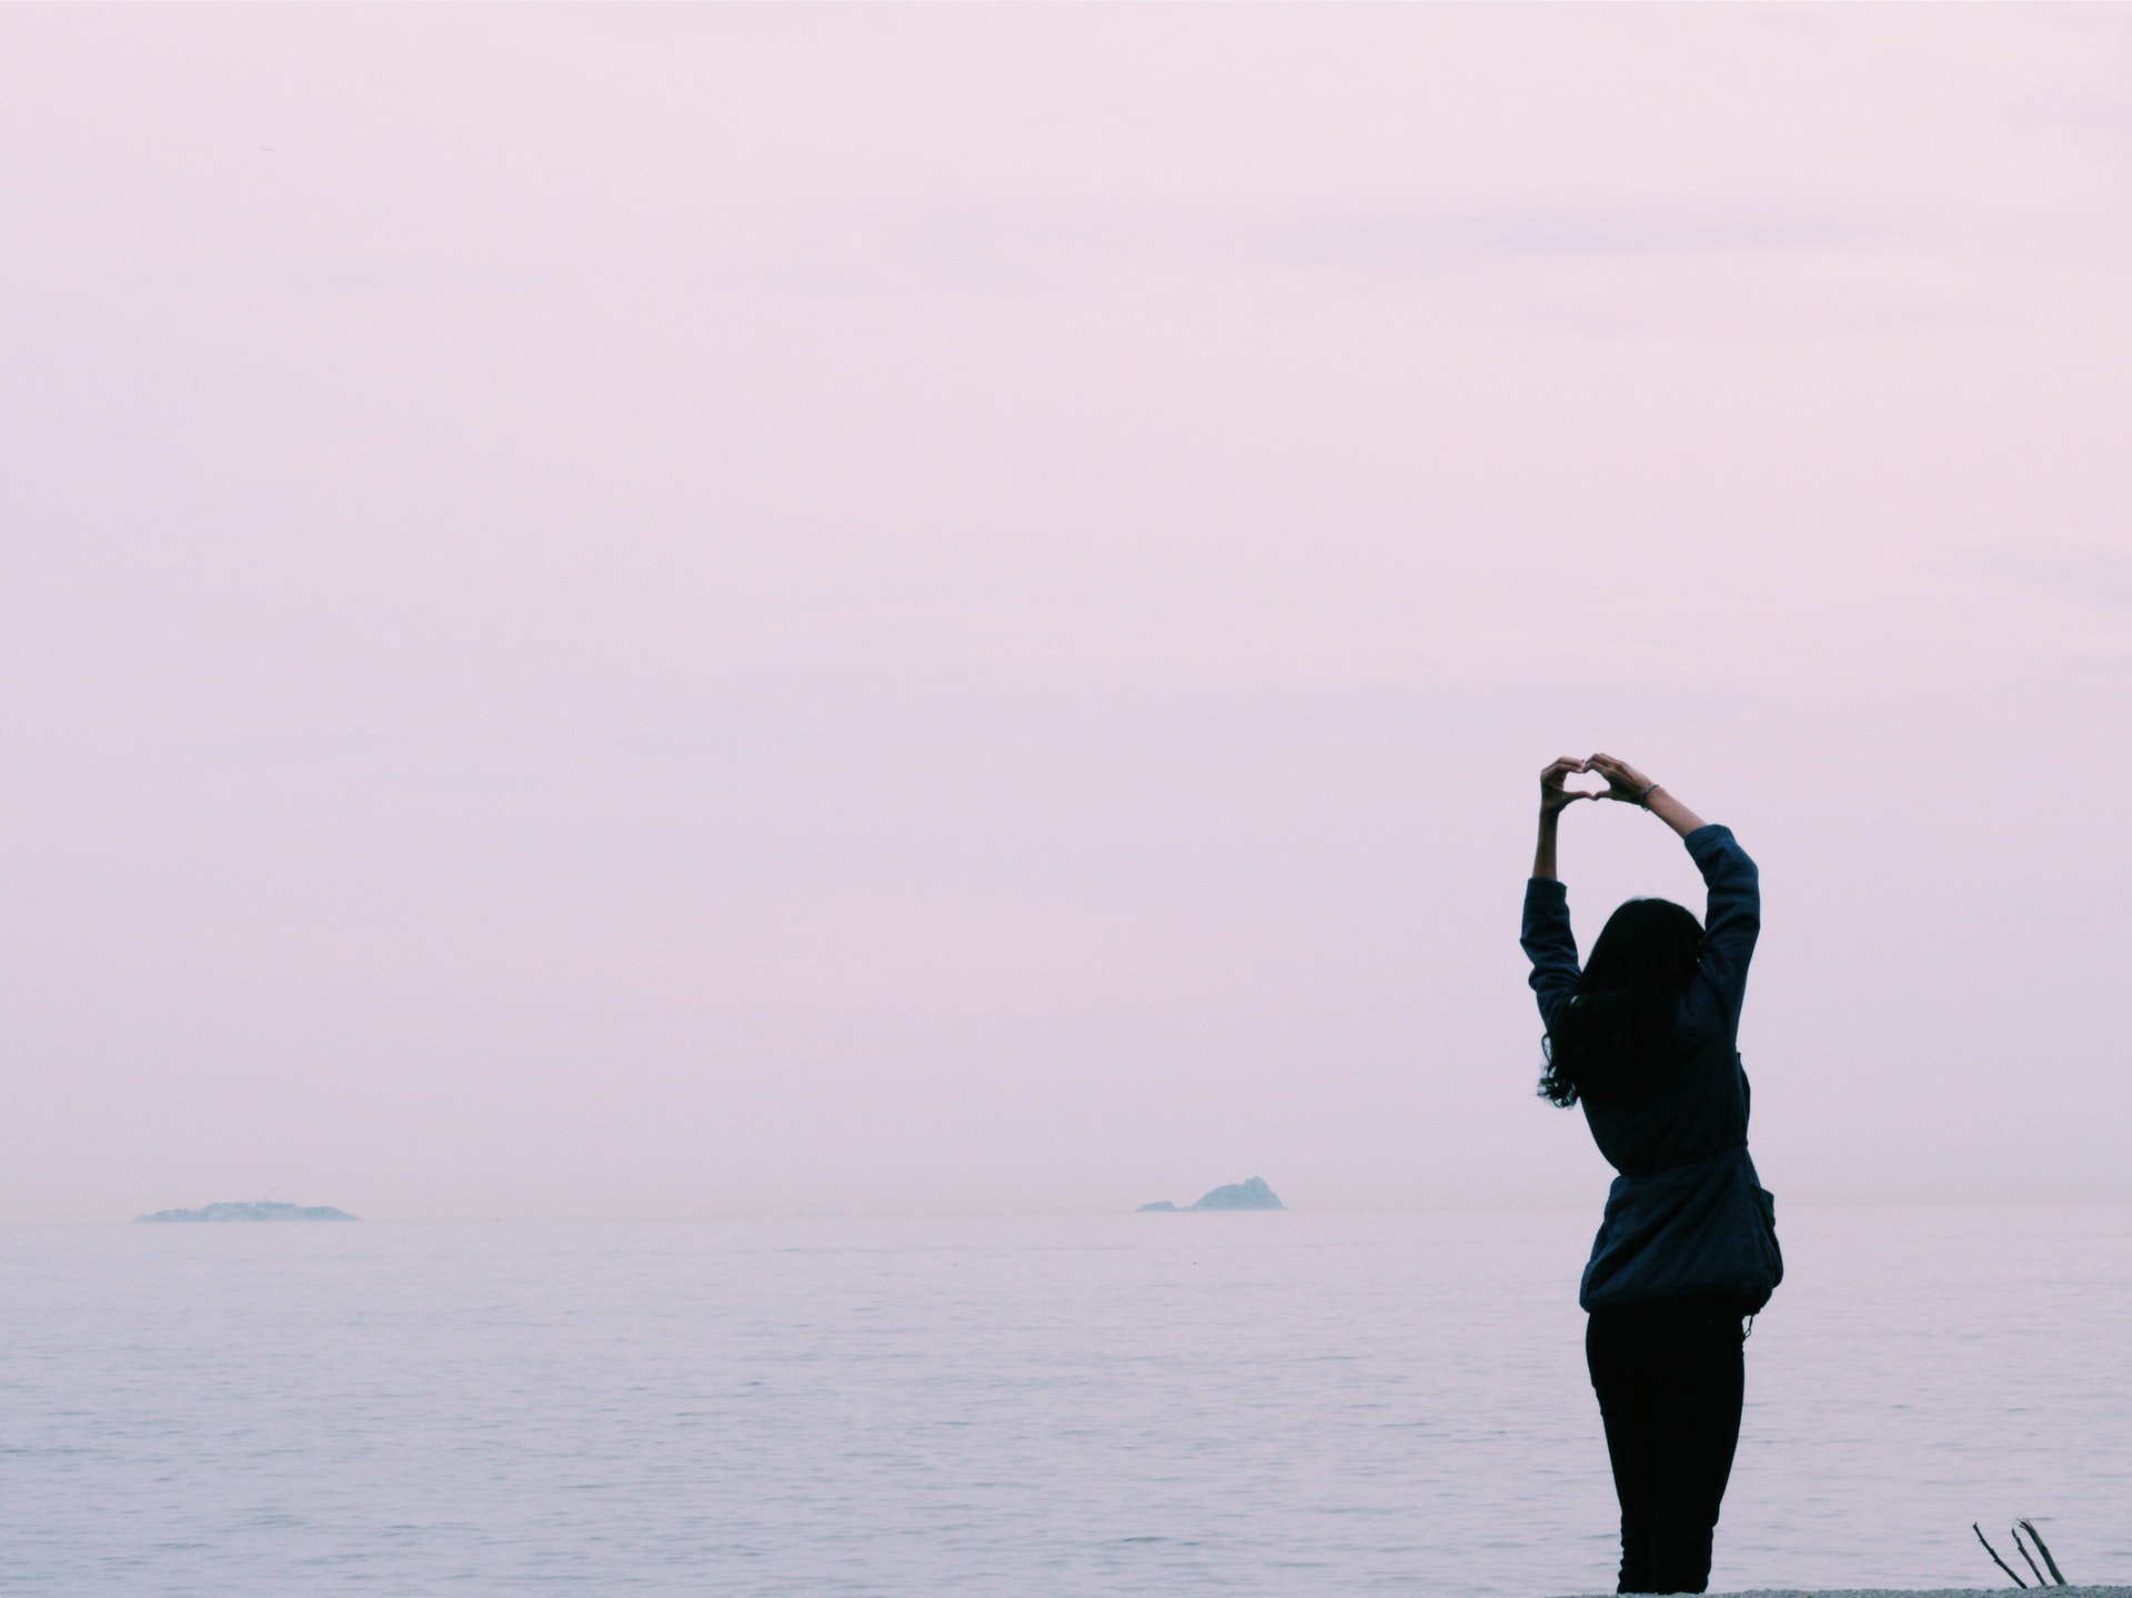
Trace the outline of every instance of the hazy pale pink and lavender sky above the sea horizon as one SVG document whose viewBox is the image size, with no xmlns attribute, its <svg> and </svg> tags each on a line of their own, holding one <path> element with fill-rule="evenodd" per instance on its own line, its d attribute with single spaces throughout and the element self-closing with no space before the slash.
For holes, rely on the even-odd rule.
<svg viewBox="0 0 2132 1598">
<path fill-rule="evenodd" d="M 2123 9 L 6 6 L 0 1216 L 1597 1214 L 1593 749 L 2128 1195 L 2128 440 Z"/>
</svg>

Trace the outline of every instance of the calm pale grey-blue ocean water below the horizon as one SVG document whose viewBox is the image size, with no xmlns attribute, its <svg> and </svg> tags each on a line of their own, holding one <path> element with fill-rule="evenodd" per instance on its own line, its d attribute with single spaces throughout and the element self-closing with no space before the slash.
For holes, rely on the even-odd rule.
<svg viewBox="0 0 2132 1598">
<path fill-rule="evenodd" d="M 1595 1218 L 4 1229 L 0 1592 L 1610 1589 Z M 1780 1225 L 1714 1587 L 2132 1577 L 2132 1205 Z"/>
</svg>

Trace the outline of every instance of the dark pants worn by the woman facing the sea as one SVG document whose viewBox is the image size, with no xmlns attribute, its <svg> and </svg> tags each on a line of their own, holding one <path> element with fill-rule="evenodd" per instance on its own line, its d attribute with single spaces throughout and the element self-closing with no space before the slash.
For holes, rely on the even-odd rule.
<svg viewBox="0 0 2132 1598">
<path fill-rule="evenodd" d="M 1740 1442 L 1744 1308 L 1665 1299 L 1593 1310 L 1584 1327 L 1620 1498 L 1614 1592 L 1703 1592 L 1710 1534 Z"/>
</svg>

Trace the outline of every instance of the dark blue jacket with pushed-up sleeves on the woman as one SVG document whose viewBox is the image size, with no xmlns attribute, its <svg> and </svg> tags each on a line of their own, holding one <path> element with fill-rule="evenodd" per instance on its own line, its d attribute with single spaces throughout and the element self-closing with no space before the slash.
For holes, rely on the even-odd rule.
<svg viewBox="0 0 2132 1598">
<path fill-rule="evenodd" d="M 1697 828 L 1686 845 L 1710 909 L 1695 977 L 1674 1020 L 1680 1067 L 1640 1103 L 1582 1101 L 1599 1152 L 1620 1171 L 1578 1293 L 1586 1310 L 1703 1295 L 1759 1310 L 1784 1280 L 1776 1208 L 1746 1152 L 1748 1086 L 1738 1048 L 1761 890 L 1755 862 L 1729 828 Z M 1520 941 L 1533 962 L 1539 1018 L 1552 1020 L 1580 971 L 1569 896 L 1558 881 L 1527 881 Z"/>
</svg>

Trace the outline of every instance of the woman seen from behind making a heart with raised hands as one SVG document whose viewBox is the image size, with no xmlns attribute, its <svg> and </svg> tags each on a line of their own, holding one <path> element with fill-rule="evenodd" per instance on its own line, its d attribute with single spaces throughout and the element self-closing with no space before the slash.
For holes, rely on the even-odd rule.
<svg viewBox="0 0 2132 1598">
<path fill-rule="evenodd" d="M 1605 794 L 1563 787 L 1597 772 Z M 1554 832 L 1580 798 L 1642 804 L 1689 845 L 1710 909 L 1663 898 L 1614 911 L 1578 969 Z M 1616 1592 L 1703 1592 L 1710 1534 L 1740 1442 L 1742 1319 L 1784 1276 L 1776 1212 L 1746 1154 L 1740 996 L 1761 930 L 1755 862 L 1721 826 L 1612 755 L 1539 774 L 1539 851 L 1524 952 L 1546 1022 L 1539 1092 L 1584 1105 L 1618 1171 L 1578 1301 L 1584 1357 L 1620 1498 Z"/>
</svg>

